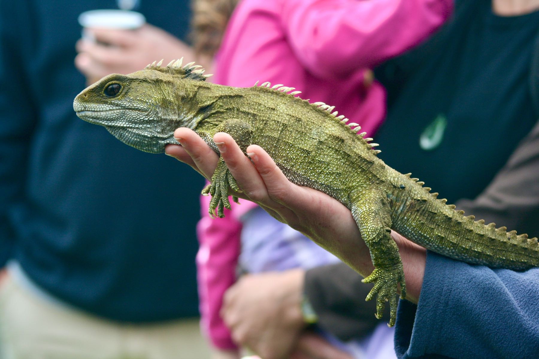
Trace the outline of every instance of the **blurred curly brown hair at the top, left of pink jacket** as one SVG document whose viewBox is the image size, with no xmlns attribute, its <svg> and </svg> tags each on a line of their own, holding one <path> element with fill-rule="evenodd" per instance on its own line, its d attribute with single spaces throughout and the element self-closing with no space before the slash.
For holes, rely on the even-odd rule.
<svg viewBox="0 0 539 359">
<path fill-rule="evenodd" d="M 197 57 L 212 58 L 240 0 L 191 0 L 191 40 Z"/>
</svg>

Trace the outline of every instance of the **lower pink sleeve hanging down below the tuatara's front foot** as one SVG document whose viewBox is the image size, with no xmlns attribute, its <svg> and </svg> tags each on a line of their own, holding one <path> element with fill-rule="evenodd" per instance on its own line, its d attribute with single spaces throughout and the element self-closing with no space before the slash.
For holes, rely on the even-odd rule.
<svg viewBox="0 0 539 359">
<path fill-rule="evenodd" d="M 230 330 L 219 311 L 225 291 L 236 281 L 236 266 L 240 253 L 241 222 L 239 216 L 256 205 L 240 200 L 225 209 L 225 217 L 212 219 L 208 214 L 210 196 L 201 196 L 202 219 L 197 225 L 199 249 L 196 258 L 201 327 L 213 346 L 233 349 Z"/>
</svg>

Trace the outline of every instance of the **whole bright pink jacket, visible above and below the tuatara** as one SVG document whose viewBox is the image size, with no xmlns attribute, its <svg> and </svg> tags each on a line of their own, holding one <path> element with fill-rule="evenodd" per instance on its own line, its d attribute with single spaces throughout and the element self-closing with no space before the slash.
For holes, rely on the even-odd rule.
<svg viewBox="0 0 539 359">
<path fill-rule="evenodd" d="M 360 123 L 371 135 L 385 115 L 384 88 L 372 67 L 420 43 L 450 15 L 452 0 L 243 0 L 216 57 L 214 82 L 250 87 L 270 81 L 295 87 Z M 372 136 L 371 136 L 372 137 Z M 220 319 L 223 294 L 235 278 L 241 201 L 225 218 L 208 216 L 202 197 L 197 255 L 202 328 L 218 348 L 235 345 Z"/>
</svg>

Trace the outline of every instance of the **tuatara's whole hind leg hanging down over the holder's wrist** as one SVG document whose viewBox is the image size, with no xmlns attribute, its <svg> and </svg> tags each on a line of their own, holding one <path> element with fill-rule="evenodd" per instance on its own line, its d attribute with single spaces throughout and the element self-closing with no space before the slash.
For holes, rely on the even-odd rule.
<svg viewBox="0 0 539 359">
<path fill-rule="evenodd" d="M 355 199 L 355 200 L 354 200 Z M 389 301 L 389 326 L 395 325 L 397 317 L 397 284 L 400 282 L 400 298 L 406 297 L 403 264 L 397 244 L 391 238 L 391 217 L 388 200 L 382 191 L 368 188 L 353 196 L 352 215 L 360 228 L 361 235 L 369 247 L 375 269 L 363 279 L 363 283 L 374 283 L 365 300 L 376 297 L 376 318 L 384 311 L 384 302 Z"/>
</svg>

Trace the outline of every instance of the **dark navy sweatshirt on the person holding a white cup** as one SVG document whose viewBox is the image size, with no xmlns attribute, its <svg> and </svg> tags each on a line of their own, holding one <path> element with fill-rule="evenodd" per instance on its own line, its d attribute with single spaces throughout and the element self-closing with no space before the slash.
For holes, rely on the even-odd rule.
<svg viewBox="0 0 539 359">
<path fill-rule="evenodd" d="M 77 17 L 106 8 L 116 2 L 0 1 L 0 266 L 17 261 L 46 293 L 113 320 L 197 315 L 202 177 L 73 111 Z M 136 10 L 188 31 L 188 1 Z"/>
</svg>

